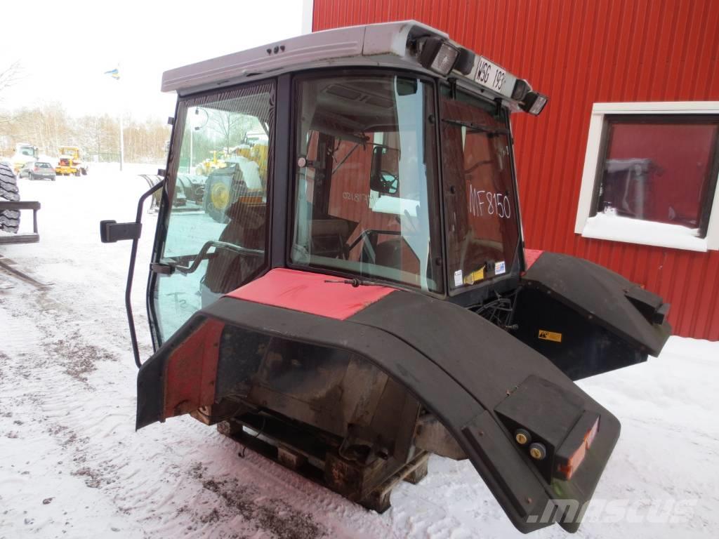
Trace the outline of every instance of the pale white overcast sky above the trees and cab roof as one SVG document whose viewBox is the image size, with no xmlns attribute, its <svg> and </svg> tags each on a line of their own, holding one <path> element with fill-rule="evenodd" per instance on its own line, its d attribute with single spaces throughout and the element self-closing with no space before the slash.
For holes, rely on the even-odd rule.
<svg viewBox="0 0 719 539">
<path fill-rule="evenodd" d="M 2 1 L 0 71 L 22 63 L 23 78 L 1 97 L 17 109 L 59 101 L 73 115 L 165 118 L 175 94 L 162 72 L 302 33 L 308 0 Z M 103 73 L 119 64 L 120 80 Z"/>
</svg>

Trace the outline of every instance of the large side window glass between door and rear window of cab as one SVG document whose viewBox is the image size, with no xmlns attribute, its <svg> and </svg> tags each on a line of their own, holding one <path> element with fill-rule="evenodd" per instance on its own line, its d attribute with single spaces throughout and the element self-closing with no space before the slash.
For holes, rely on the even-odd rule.
<svg viewBox="0 0 719 539">
<path fill-rule="evenodd" d="M 306 78 L 296 96 L 292 262 L 441 291 L 431 85 Z"/>
</svg>

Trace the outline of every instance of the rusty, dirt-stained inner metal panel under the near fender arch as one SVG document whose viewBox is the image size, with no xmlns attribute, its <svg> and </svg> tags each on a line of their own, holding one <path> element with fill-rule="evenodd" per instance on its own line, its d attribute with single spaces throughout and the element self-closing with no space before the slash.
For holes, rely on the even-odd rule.
<svg viewBox="0 0 719 539">
<path fill-rule="evenodd" d="M 281 338 L 257 346 L 259 361 L 244 361 L 237 343 L 249 341 L 246 331 L 226 328 L 219 397 L 339 436 L 339 454 L 347 459 L 369 462 L 379 455 L 404 463 L 411 457 L 418 401 L 369 361 Z"/>
</svg>

